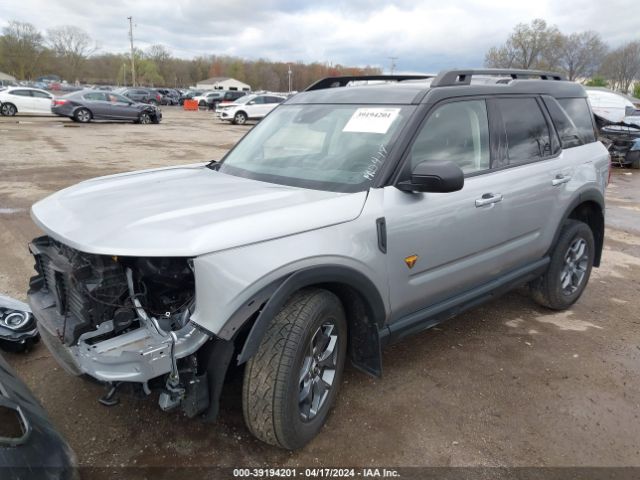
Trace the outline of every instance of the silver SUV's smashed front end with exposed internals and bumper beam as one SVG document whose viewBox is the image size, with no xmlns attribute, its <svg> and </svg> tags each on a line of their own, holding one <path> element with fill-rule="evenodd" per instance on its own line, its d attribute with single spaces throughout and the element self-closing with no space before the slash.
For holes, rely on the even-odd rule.
<svg viewBox="0 0 640 480">
<path fill-rule="evenodd" d="M 187 258 L 87 254 L 51 237 L 30 244 L 37 275 L 29 303 L 40 335 L 71 374 L 146 394 L 160 389 L 163 410 L 189 416 L 209 404 L 205 368 L 195 353 L 211 336 L 190 321 L 195 282 Z"/>
</svg>

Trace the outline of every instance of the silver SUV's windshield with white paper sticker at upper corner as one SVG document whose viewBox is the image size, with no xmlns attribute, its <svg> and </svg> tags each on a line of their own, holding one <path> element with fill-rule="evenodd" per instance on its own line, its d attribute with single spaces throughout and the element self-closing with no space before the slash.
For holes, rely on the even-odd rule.
<svg viewBox="0 0 640 480">
<path fill-rule="evenodd" d="M 219 171 L 317 190 L 366 190 L 414 108 L 282 105 L 227 154 Z"/>
</svg>

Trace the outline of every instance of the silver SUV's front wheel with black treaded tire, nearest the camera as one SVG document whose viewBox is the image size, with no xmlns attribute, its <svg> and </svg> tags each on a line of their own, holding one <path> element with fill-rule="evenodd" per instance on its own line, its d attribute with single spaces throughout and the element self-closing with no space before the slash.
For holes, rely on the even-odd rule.
<svg viewBox="0 0 640 480">
<path fill-rule="evenodd" d="M 317 356 L 310 355 L 317 351 L 314 345 L 322 350 Z M 328 356 L 320 361 L 331 345 Z M 247 362 L 242 407 L 251 433 L 263 442 L 290 450 L 313 439 L 335 401 L 346 348 L 347 323 L 338 297 L 317 288 L 295 293 L 271 322 L 256 355 Z M 321 364 L 329 359 L 335 366 L 325 369 Z M 306 376 L 302 376 L 304 372 Z M 328 390 L 325 379 L 331 379 Z M 316 397 L 318 385 L 322 389 Z M 302 402 L 304 391 L 312 394 Z M 314 399 L 319 399 L 317 411 L 311 409 Z"/>
</svg>

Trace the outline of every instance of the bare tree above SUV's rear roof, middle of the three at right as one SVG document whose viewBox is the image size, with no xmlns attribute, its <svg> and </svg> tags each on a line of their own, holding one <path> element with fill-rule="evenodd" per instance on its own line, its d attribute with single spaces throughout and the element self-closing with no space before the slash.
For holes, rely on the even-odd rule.
<svg viewBox="0 0 640 480">
<path fill-rule="evenodd" d="M 596 32 L 563 35 L 558 50 L 558 66 L 569 80 L 591 77 L 600 67 L 607 46 Z"/>
</svg>

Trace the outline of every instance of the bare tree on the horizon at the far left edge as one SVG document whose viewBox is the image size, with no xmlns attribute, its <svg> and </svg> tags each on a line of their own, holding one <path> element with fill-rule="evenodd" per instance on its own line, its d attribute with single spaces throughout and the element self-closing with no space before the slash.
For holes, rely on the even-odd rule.
<svg viewBox="0 0 640 480">
<path fill-rule="evenodd" d="M 2 29 L 0 65 L 20 79 L 32 78 L 44 51 L 42 34 L 30 23 L 11 21 Z"/>
</svg>

